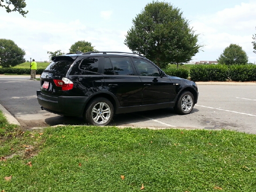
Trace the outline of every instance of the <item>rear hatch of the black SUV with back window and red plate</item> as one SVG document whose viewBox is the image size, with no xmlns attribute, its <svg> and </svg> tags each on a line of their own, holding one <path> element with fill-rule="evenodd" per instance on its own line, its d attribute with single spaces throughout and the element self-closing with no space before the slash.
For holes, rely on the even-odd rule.
<svg viewBox="0 0 256 192">
<path fill-rule="evenodd" d="M 76 57 L 55 56 L 52 62 L 40 76 L 41 96 L 46 99 L 57 100 L 57 96 L 64 94 L 62 80 L 68 73 Z M 68 89 L 67 89 L 68 90 Z"/>
</svg>

